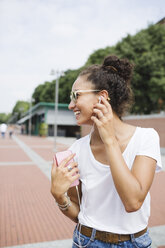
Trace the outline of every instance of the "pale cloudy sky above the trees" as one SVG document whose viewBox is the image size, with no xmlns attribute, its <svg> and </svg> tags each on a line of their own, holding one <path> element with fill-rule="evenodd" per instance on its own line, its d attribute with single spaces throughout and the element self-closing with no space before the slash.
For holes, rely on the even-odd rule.
<svg viewBox="0 0 165 248">
<path fill-rule="evenodd" d="M 0 0 L 0 113 L 163 17 L 164 0 Z"/>
</svg>

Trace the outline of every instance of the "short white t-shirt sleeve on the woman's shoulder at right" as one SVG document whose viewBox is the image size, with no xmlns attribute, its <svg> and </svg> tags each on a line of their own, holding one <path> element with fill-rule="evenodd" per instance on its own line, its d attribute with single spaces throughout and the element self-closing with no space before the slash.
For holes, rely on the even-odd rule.
<svg viewBox="0 0 165 248">
<path fill-rule="evenodd" d="M 162 162 L 160 153 L 160 139 L 155 129 L 144 128 L 137 155 L 144 155 L 155 159 L 157 161 L 156 172 L 161 171 Z"/>
</svg>

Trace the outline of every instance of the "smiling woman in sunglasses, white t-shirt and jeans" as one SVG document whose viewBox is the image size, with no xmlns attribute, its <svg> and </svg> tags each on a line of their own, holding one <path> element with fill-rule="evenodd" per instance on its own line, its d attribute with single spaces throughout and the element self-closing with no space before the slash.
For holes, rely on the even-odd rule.
<svg viewBox="0 0 165 248">
<path fill-rule="evenodd" d="M 51 193 L 78 223 L 73 248 L 151 245 L 149 189 L 161 169 L 159 136 L 152 128 L 122 121 L 132 98 L 132 70 L 127 59 L 108 56 L 102 65 L 82 71 L 72 86 L 69 109 L 78 125 L 93 128 L 70 147 L 73 155 L 58 167 L 54 162 Z M 76 188 L 70 188 L 78 178 L 81 203 Z"/>
</svg>

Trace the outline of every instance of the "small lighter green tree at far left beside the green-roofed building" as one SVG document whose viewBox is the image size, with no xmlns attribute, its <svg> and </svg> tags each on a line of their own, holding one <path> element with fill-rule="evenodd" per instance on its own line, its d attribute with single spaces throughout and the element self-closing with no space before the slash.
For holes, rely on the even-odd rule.
<svg viewBox="0 0 165 248">
<path fill-rule="evenodd" d="M 29 109 L 29 102 L 26 101 L 17 101 L 13 110 L 12 110 L 12 115 L 16 116 L 16 119 L 19 120 L 22 116 L 23 113 L 28 111 Z"/>
</svg>

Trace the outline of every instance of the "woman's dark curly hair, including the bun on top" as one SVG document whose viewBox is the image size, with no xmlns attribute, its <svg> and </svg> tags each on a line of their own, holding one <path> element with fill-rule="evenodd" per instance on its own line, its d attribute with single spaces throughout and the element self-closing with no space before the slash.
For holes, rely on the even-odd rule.
<svg viewBox="0 0 165 248">
<path fill-rule="evenodd" d="M 130 87 L 132 72 L 133 65 L 127 59 L 110 55 L 102 65 L 89 66 L 79 76 L 86 75 L 95 89 L 107 90 L 112 109 L 121 118 L 133 100 Z"/>
</svg>

